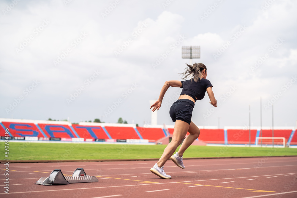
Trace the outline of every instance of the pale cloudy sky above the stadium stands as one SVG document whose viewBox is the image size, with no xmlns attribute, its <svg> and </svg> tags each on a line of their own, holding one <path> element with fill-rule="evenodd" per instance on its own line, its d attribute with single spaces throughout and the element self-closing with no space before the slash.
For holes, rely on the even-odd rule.
<svg viewBox="0 0 297 198">
<path fill-rule="evenodd" d="M 293 0 L 48 0 L 0 2 L 0 118 L 151 122 L 149 100 L 181 80 L 201 47 L 219 106 L 206 94 L 204 126 L 295 126 L 297 2 Z M 173 124 L 170 87 L 158 124 Z"/>
</svg>

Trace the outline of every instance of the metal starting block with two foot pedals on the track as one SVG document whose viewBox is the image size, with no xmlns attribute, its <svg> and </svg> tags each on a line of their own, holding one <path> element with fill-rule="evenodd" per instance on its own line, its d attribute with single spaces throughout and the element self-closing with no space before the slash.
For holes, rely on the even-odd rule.
<svg viewBox="0 0 297 198">
<path fill-rule="evenodd" d="M 54 184 L 69 184 L 69 183 L 86 183 L 86 182 L 98 182 L 95 176 L 86 175 L 83 168 L 77 168 L 73 172 L 72 176 L 66 176 L 62 174 L 60 169 L 55 169 L 50 173 L 49 177 L 42 177 L 35 184 L 44 186 Z"/>
</svg>

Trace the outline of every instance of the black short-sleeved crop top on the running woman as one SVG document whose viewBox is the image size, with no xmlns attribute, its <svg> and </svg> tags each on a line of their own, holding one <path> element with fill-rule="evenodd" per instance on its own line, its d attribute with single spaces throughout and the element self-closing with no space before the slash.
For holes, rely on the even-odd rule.
<svg viewBox="0 0 297 198">
<path fill-rule="evenodd" d="M 196 102 L 196 100 L 201 100 L 204 98 L 206 89 L 208 87 L 212 87 L 212 85 L 210 81 L 205 78 L 201 78 L 197 81 L 197 83 L 195 83 L 194 79 L 181 81 L 181 88 L 183 89 L 181 91 L 181 95 L 186 94 L 191 96 Z"/>
</svg>

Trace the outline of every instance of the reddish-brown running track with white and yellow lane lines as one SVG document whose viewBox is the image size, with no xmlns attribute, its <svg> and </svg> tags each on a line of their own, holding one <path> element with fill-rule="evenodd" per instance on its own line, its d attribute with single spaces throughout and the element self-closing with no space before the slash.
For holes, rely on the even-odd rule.
<svg viewBox="0 0 297 198">
<path fill-rule="evenodd" d="M 156 161 L 55 162 L 9 164 L 9 194 L 0 197 L 297 197 L 297 156 L 188 159 L 185 169 L 168 161 L 161 179 L 150 172 Z M 99 182 L 42 186 L 34 184 L 54 169 L 72 175 L 83 168 Z"/>
</svg>

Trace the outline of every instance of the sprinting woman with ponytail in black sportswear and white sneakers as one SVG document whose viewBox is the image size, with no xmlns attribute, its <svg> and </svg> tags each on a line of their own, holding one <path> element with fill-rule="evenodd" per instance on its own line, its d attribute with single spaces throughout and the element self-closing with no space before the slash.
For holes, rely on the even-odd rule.
<svg viewBox="0 0 297 198">
<path fill-rule="evenodd" d="M 195 63 L 188 65 L 185 69 L 183 80 L 189 76 L 190 80 L 179 81 L 169 80 L 166 81 L 161 89 L 159 99 L 151 105 L 152 111 L 159 110 L 162 104 L 162 100 L 168 87 L 180 87 L 183 90 L 178 100 L 170 107 L 170 117 L 175 122 L 174 131 L 171 142 L 164 149 L 164 152 L 159 161 L 151 168 L 151 172 L 160 178 L 170 179 L 170 175 L 166 175 L 164 172 L 164 164 L 170 158 L 178 167 L 184 169 L 183 154 L 186 149 L 196 140 L 200 134 L 199 128 L 191 121 L 192 111 L 196 100 L 203 99 L 205 92 L 207 92 L 209 99 L 214 107 L 217 107 L 217 100 L 214 97 L 212 91 L 212 85 L 209 80 L 206 79 L 207 71 L 206 66 L 202 63 Z M 184 139 L 187 132 L 190 134 Z M 182 140 L 183 143 L 181 144 Z M 172 156 L 176 151 L 176 148 L 181 144 L 178 152 Z"/>
</svg>

